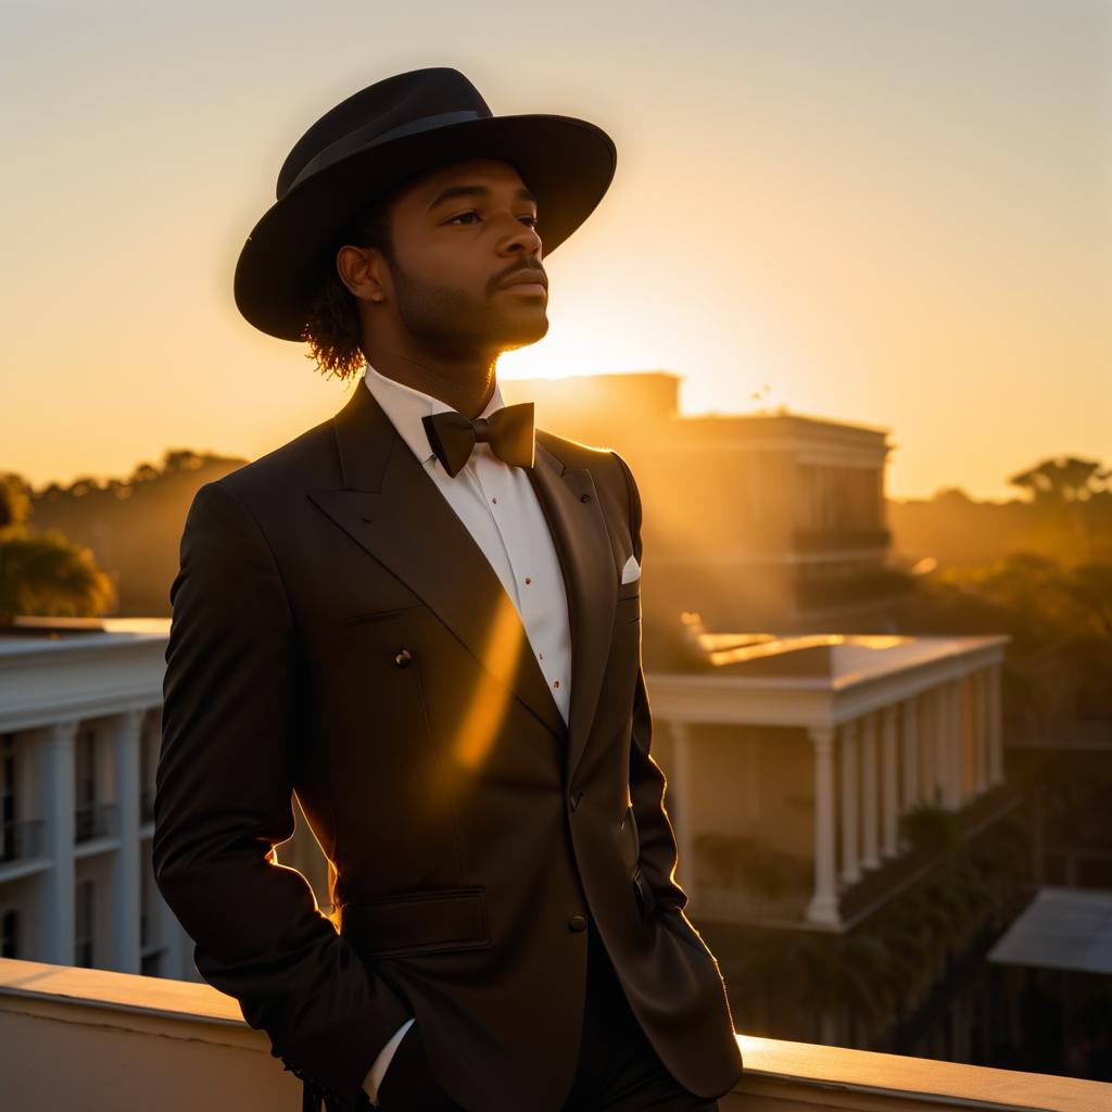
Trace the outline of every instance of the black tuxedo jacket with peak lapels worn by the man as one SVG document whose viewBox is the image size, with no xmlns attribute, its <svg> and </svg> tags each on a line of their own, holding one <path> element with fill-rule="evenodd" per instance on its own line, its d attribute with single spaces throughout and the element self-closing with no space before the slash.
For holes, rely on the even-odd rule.
<svg viewBox="0 0 1112 1112">
<path fill-rule="evenodd" d="M 466 526 L 364 384 L 190 506 L 170 588 L 158 886 L 197 969 L 329 1109 L 416 1015 L 475 1112 L 555 1112 L 592 916 L 664 1063 L 713 1098 L 742 1058 L 684 915 L 641 665 L 625 461 L 543 429 L 529 471 L 567 588 L 570 722 Z M 332 919 L 274 847 L 296 792 Z"/>
</svg>

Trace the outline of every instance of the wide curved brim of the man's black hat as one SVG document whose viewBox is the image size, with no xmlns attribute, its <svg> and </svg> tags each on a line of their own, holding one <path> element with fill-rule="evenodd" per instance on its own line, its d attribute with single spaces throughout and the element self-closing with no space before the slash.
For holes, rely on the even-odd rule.
<svg viewBox="0 0 1112 1112">
<path fill-rule="evenodd" d="M 405 179 L 473 158 L 516 167 L 537 198 L 546 257 L 594 211 L 617 162 L 605 131 L 567 116 L 495 116 L 370 145 L 295 186 L 262 216 L 236 264 L 239 311 L 270 336 L 300 340 L 348 220 Z"/>
</svg>

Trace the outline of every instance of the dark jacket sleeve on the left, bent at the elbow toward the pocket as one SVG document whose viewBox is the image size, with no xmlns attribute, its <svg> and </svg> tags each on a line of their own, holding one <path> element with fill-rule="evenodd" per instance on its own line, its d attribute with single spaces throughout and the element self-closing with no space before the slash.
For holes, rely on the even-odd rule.
<svg viewBox="0 0 1112 1112">
<path fill-rule="evenodd" d="M 413 1014 L 275 846 L 294 833 L 298 643 L 274 555 L 224 483 L 202 486 L 170 587 L 152 865 L 197 970 L 329 1109 Z M 363 1103 L 360 1103 L 363 1094 Z M 319 1101 L 318 1101 L 319 1103 Z"/>
</svg>

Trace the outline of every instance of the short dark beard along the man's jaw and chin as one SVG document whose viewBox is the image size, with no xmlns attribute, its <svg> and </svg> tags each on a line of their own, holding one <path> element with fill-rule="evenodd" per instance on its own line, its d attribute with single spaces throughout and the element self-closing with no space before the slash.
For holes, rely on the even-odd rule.
<svg viewBox="0 0 1112 1112">
<path fill-rule="evenodd" d="M 548 331 L 544 305 L 530 300 L 516 309 L 500 308 L 497 295 L 475 297 L 440 286 L 390 264 L 398 317 L 427 351 L 458 357 L 463 351 L 492 354 L 525 347 Z M 513 300 L 513 298 L 510 298 Z"/>
</svg>

